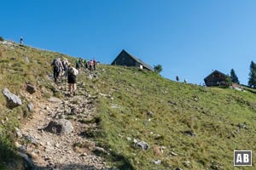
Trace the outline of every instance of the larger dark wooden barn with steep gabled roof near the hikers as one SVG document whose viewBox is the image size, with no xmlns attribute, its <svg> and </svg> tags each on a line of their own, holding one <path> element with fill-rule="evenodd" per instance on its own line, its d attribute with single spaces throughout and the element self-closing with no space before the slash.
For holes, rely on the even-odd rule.
<svg viewBox="0 0 256 170">
<path fill-rule="evenodd" d="M 148 71 L 154 71 L 151 66 L 144 63 L 141 59 L 127 53 L 125 49 L 123 49 L 121 53 L 113 60 L 111 65 L 134 66 L 141 69 L 146 69 Z"/>
</svg>

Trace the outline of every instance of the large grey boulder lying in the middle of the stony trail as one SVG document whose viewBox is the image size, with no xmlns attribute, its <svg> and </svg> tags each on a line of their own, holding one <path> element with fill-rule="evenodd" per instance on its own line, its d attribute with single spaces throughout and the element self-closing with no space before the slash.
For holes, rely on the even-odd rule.
<svg viewBox="0 0 256 170">
<path fill-rule="evenodd" d="M 49 122 L 49 125 L 44 127 L 44 130 L 50 133 L 65 135 L 73 132 L 73 126 L 66 119 L 59 119 Z"/>
</svg>

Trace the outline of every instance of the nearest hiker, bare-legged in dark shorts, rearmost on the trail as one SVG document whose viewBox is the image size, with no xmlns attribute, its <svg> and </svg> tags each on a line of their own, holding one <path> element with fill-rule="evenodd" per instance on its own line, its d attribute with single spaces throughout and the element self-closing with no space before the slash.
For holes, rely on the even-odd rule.
<svg viewBox="0 0 256 170">
<path fill-rule="evenodd" d="M 67 67 L 67 82 L 68 82 L 68 89 L 69 93 L 72 95 L 76 94 L 77 90 L 77 75 L 79 74 L 79 71 L 75 68 L 73 68 L 70 64 Z"/>
</svg>

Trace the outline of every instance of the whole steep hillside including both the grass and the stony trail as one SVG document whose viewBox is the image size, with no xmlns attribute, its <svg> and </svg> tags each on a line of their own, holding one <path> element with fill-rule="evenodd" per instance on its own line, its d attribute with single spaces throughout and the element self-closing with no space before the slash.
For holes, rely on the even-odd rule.
<svg viewBox="0 0 256 170">
<path fill-rule="evenodd" d="M 62 165 L 68 168 L 74 166 L 72 162 L 80 165 L 85 155 L 96 155 L 94 158 L 100 165 L 97 168 L 104 167 L 104 160 L 119 169 L 236 169 L 233 150 L 256 149 L 256 95 L 249 88 L 246 92 L 206 88 L 172 82 L 136 68 L 98 65 L 97 71 L 79 75 L 79 93 L 68 97 L 65 82 L 57 85 L 52 82 L 49 64 L 57 56 L 72 61 L 73 58 L 14 42 L 0 43 L 0 52 L 0 89 L 9 88 L 24 103 L 8 109 L 5 97 L 0 95 L 3 150 L 0 169 L 12 166 L 22 169 L 22 164 L 13 157 L 15 152 L 9 150 L 9 147 L 15 150 L 15 141 L 20 144 L 13 135 L 15 127 L 41 141 L 36 148 L 39 152 L 33 153 L 35 148 L 26 149 L 32 161 L 42 168 Z M 37 88 L 36 94 L 27 94 L 28 82 Z M 50 102 L 52 96 L 61 102 Z M 27 109 L 29 102 L 35 104 L 33 113 Z M 79 114 L 70 114 L 72 107 Z M 61 143 L 38 130 L 61 117 L 73 122 L 74 132 L 81 138 L 68 136 L 70 144 L 60 139 Z M 150 148 L 143 150 L 137 146 L 140 141 Z M 148 146 L 145 143 L 141 144 Z M 93 150 L 96 146 L 104 150 Z M 58 159 L 54 154 L 64 156 Z M 89 161 L 81 166 L 95 168 Z"/>
</svg>

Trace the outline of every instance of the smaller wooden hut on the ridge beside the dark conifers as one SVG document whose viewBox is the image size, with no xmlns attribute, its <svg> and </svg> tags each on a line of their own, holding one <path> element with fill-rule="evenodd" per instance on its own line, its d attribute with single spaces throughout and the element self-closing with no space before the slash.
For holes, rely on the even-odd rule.
<svg viewBox="0 0 256 170">
<path fill-rule="evenodd" d="M 207 87 L 210 86 L 229 86 L 228 76 L 220 71 L 213 71 L 204 81 Z"/>
</svg>

